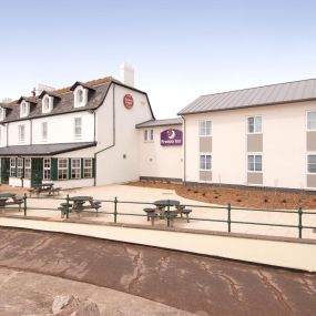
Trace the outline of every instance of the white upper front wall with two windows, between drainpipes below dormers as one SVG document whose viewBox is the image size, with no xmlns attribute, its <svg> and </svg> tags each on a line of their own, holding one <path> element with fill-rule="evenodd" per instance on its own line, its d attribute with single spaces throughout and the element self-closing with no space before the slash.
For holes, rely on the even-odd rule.
<svg viewBox="0 0 316 316">
<path fill-rule="evenodd" d="M 75 143 L 94 141 L 93 113 L 75 112 L 32 120 L 33 144 Z M 74 136 L 74 119 L 82 120 L 82 136 Z M 48 139 L 42 139 L 42 122 L 48 122 Z"/>
</svg>

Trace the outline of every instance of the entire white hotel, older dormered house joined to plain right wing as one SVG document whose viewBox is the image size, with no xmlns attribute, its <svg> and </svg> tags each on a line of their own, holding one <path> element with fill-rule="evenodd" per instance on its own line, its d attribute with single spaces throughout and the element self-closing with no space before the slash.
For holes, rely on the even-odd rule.
<svg viewBox="0 0 316 316">
<path fill-rule="evenodd" d="M 1 183 L 316 188 L 316 80 L 203 95 L 155 120 L 133 70 L 122 73 L 0 103 Z"/>
</svg>

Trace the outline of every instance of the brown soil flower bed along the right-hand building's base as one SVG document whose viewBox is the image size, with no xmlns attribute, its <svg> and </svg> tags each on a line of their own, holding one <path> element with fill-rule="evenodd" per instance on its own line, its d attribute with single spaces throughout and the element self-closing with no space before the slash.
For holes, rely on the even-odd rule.
<svg viewBox="0 0 316 316">
<path fill-rule="evenodd" d="M 174 190 L 177 195 L 220 205 L 227 205 L 253 208 L 271 208 L 271 210 L 316 210 L 316 192 L 315 194 L 287 193 L 279 191 L 267 190 L 247 190 L 247 188 L 231 188 L 223 186 L 205 186 L 194 185 L 184 186 L 176 183 L 139 181 L 129 182 L 126 185 L 156 187 Z"/>
</svg>

